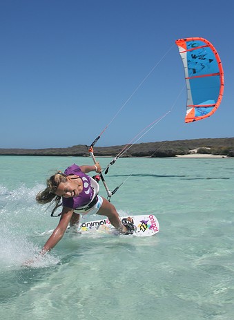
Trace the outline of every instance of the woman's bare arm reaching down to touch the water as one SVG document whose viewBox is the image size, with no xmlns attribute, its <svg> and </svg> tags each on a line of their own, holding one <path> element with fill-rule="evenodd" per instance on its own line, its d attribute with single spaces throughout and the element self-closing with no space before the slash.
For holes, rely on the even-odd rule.
<svg viewBox="0 0 234 320">
<path fill-rule="evenodd" d="M 66 229 L 68 227 L 68 223 L 72 218 L 73 211 L 74 209 L 68 207 L 63 208 L 59 224 L 55 228 L 54 232 L 51 234 L 50 238 L 48 238 L 48 241 L 46 241 L 46 244 L 43 246 L 40 252 L 41 255 L 46 254 L 46 252 L 49 252 L 53 247 L 55 247 L 55 245 L 57 245 L 57 243 L 64 236 L 64 233 L 66 232 Z"/>
</svg>

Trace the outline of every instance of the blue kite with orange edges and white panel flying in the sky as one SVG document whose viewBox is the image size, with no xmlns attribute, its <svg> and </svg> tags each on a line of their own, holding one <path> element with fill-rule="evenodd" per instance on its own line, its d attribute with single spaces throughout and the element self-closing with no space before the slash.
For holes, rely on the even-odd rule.
<svg viewBox="0 0 234 320">
<path fill-rule="evenodd" d="M 202 120 L 213 115 L 224 92 L 222 62 L 211 42 L 204 38 L 175 41 L 184 64 L 187 86 L 185 122 Z"/>
</svg>

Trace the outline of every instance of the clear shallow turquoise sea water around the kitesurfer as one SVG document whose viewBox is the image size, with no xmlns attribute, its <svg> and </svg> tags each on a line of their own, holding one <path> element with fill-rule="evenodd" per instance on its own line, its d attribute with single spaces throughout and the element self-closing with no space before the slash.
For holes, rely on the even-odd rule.
<svg viewBox="0 0 234 320">
<path fill-rule="evenodd" d="M 110 161 L 99 159 L 102 167 Z M 160 232 L 66 234 L 23 267 L 55 227 L 35 195 L 46 178 L 90 158 L 0 156 L 0 318 L 230 320 L 234 314 L 234 159 L 119 159 L 121 215 L 153 213 Z M 101 186 L 101 195 L 106 196 Z M 95 216 L 90 217 L 95 220 Z"/>
</svg>

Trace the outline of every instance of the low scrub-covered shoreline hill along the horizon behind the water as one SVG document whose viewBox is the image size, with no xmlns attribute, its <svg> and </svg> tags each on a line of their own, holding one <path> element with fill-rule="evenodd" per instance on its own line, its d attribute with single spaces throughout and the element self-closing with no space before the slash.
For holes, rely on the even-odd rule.
<svg viewBox="0 0 234 320">
<path fill-rule="evenodd" d="M 116 156 L 125 145 L 112 147 L 95 147 L 95 156 Z M 186 155 L 193 150 L 197 153 L 234 156 L 234 138 L 208 138 L 193 140 L 174 140 L 134 144 L 123 157 L 174 157 Z M 79 156 L 88 157 L 84 144 L 68 148 L 48 149 L 0 149 L 1 156 Z"/>
</svg>

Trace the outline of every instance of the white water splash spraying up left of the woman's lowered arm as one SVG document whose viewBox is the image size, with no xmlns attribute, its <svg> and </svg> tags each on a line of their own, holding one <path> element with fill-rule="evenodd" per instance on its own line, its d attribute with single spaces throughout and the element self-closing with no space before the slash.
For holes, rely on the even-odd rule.
<svg viewBox="0 0 234 320">
<path fill-rule="evenodd" d="M 48 216 L 45 208 L 35 202 L 35 195 L 40 189 L 40 185 L 31 189 L 21 185 L 9 190 L 0 185 L 0 271 L 22 267 L 26 261 L 37 257 L 41 249 L 41 245 L 35 245 L 33 238 L 35 229 L 43 228 Z M 30 267 L 46 267 L 57 263 L 59 258 L 48 254 L 43 258 L 35 258 Z"/>
</svg>

